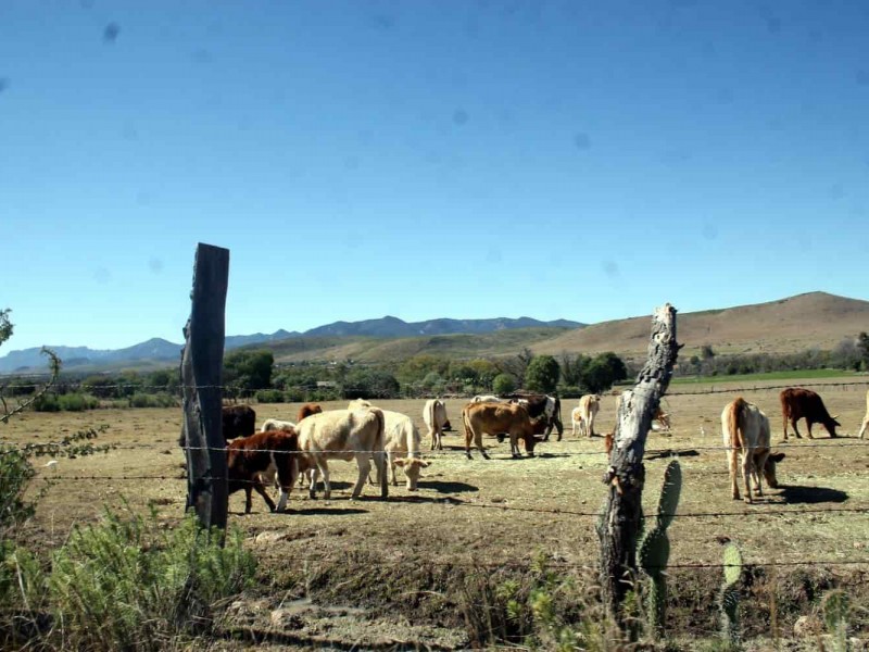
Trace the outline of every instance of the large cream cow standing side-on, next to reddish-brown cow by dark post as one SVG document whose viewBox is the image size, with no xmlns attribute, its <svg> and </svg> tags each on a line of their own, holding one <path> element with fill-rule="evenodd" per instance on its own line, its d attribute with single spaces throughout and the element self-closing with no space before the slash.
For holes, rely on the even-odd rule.
<svg viewBox="0 0 869 652">
<path fill-rule="evenodd" d="M 313 468 L 308 496 L 316 498 L 317 475 L 323 474 L 324 498 L 331 497 L 328 460 L 353 460 L 358 466 L 358 478 L 351 498 L 358 498 L 365 478 L 371 469 L 374 456 L 377 477 L 380 480 L 380 496 L 387 498 L 386 453 L 383 452 L 385 417 L 377 408 L 356 410 L 329 410 L 312 414 L 297 425 L 299 449 L 304 461 L 301 467 Z"/>
</svg>

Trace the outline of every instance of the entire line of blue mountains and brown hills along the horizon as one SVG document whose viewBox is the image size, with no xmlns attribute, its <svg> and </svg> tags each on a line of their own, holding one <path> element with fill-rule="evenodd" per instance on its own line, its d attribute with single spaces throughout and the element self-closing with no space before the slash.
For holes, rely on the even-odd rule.
<svg viewBox="0 0 869 652">
<path fill-rule="evenodd" d="M 664 301 L 658 301 L 664 303 Z M 654 300 L 650 302 L 650 306 Z M 678 305 L 677 305 L 678 308 Z M 450 359 L 496 358 L 530 349 L 536 354 L 596 354 L 614 351 L 625 360 L 642 360 L 648 347 L 648 315 L 584 325 L 557 319 L 430 319 L 406 323 L 398 317 L 336 322 L 305 333 L 278 330 L 226 338 L 226 350 L 268 348 L 276 362 L 363 363 L 400 362 L 413 355 Z M 844 340 L 869 331 L 869 301 L 808 292 L 748 305 L 678 313 L 680 358 L 700 353 L 709 344 L 720 355 L 793 353 L 832 350 Z M 177 365 L 181 344 L 151 339 L 126 349 L 93 351 L 84 347 L 54 347 L 64 369 L 74 372 L 154 368 Z M 0 373 L 43 371 L 38 349 L 12 351 L 0 358 Z"/>
</svg>

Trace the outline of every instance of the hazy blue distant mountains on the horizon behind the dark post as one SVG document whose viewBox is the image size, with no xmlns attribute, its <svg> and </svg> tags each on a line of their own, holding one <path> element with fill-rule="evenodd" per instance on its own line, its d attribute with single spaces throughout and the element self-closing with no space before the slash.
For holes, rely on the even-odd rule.
<svg viewBox="0 0 869 652">
<path fill-rule="evenodd" d="M 234 335 L 225 339 L 225 349 L 232 350 L 240 347 L 274 344 L 276 342 L 305 340 L 302 348 L 312 351 L 316 356 L 318 347 L 325 346 L 323 338 L 405 338 L 420 334 L 484 334 L 500 330 L 511 330 L 528 327 L 564 328 L 579 327 L 578 322 L 558 319 L 555 322 L 540 322 L 530 317 L 494 318 L 494 319 L 430 319 L 408 324 L 398 317 L 386 316 L 380 319 L 365 319 L 362 322 L 335 322 L 326 326 L 318 326 L 305 333 L 276 330 L 272 334 L 256 333 L 253 335 Z M 551 331 L 550 331 L 551 334 Z M 345 346 L 347 340 L 341 342 Z M 166 363 L 180 362 L 181 344 L 176 344 L 164 339 L 153 338 L 148 341 L 127 347 L 126 349 L 96 350 L 87 347 L 50 347 L 63 361 L 65 371 L 108 371 L 118 367 L 149 368 L 166 366 Z M 327 347 L 329 348 L 329 347 Z M 40 349 L 30 348 L 12 351 L 0 358 L 0 373 L 28 373 L 41 372 L 46 368 L 46 359 L 39 354 Z"/>
</svg>

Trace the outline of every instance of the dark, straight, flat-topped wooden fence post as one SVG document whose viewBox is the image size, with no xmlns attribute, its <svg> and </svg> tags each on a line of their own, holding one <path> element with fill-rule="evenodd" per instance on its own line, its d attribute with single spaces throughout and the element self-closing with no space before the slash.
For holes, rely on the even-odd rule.
<svg viewBox="0 0 869 652">
<path fill-rule="evenodd" d="M 224 310 L 229 250 L 197 247 L 190 318 L 184 328 L 182 444 L 187 453 L 187 506 L 205 528 L 226 529 L 228 492 L 223 434 Z"/>
</svg>

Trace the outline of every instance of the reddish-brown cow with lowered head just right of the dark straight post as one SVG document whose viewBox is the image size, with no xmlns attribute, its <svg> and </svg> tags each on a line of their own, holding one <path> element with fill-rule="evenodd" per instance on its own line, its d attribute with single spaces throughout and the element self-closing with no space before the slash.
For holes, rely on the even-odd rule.
<svg viewBox="0 0 869 652">
<path fill-rule="evenodd" d="M 268 509 L 275 503 L 265 490 L 266 481 L 277 475 L 280 500 L 277 511 L 287 506 L 287 498 L 298 473 L 299 436 L 292 428 L 257 432 L 230 442 L 227 447 L 227 485 L 229 493 L 244 490 L 244 513 L 251 513 L 251 491 L 256 489 Z"/>
</svg>

